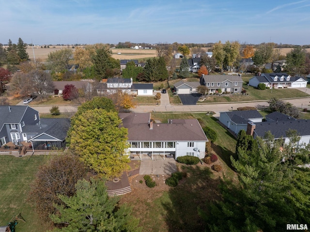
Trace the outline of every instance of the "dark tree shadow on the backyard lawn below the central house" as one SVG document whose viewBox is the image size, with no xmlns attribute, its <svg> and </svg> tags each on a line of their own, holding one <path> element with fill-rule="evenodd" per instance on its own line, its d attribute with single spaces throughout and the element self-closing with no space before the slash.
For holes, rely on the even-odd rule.
<svg viewBox="0 0 310 232">
<path fill-rule="evenodd" d="M 219 198 L 219 179 L 212 179 L 210 168 L 182 166 L 187 173 L 179 185 L 171 188 L 171 202 L 163 202 L 165 221 L 169 232 L 204 231 L 205 223 L 198 216 L 198 207 L 205 209 L 206 202 Z"/>
</svg>

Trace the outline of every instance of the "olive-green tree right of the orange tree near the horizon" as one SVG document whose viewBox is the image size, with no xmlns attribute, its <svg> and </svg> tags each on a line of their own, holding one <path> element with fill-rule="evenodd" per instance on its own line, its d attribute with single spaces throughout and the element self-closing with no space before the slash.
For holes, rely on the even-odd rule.
<svg viewBox="0 0 310 232">
<path fill-rule="evenodd" d="M 254 63 L 256 65 L 263 65 L 267 62 L 271 62 L 274 47 L 274 43 L 263 43 L 259 45 L 255 49 L 254 57 L 252 58 Z"/>
</svg>

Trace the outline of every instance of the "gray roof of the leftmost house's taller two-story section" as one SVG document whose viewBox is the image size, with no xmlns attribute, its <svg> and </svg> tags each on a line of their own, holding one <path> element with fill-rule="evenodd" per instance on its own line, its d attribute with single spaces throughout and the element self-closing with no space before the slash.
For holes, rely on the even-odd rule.
<svg viewBox="0 0 310 232">
<path fill-rule="evenodd" d="M 0 128 L 5 123 L 19 124 L 28 107 L 29 106 L 0 106 Z"/>
</svg>

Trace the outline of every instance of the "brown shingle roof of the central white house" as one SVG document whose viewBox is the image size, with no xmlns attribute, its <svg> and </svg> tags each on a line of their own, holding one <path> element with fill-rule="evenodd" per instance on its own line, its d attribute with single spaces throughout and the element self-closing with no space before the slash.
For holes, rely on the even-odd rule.
<svg viewBox="0 0 310 232">
<path fill-rule="evenodd" d="M 207 141 L 197 119 L 173 119 L 172 123 L 153 123 L 149 113 L 120 113 L 123 126 L 128 128 L 128 141 Z M 171 122 L 171 121 L 170 121 Z"/>
</svg>

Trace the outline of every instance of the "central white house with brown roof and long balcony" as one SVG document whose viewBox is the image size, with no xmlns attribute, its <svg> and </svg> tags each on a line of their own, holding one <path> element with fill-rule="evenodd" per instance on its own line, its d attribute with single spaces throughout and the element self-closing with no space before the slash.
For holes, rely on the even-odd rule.
<svg viewBox="0 0 310 232">
<path fill-rule="evenodd" d="M 154 123 L 150 113 L 120 113 L 128 129 L 128 153 L 154 155 L 192 155 L 203 158 L 206 138 L 197 119 L 173 119 Z"/>
</svg>

